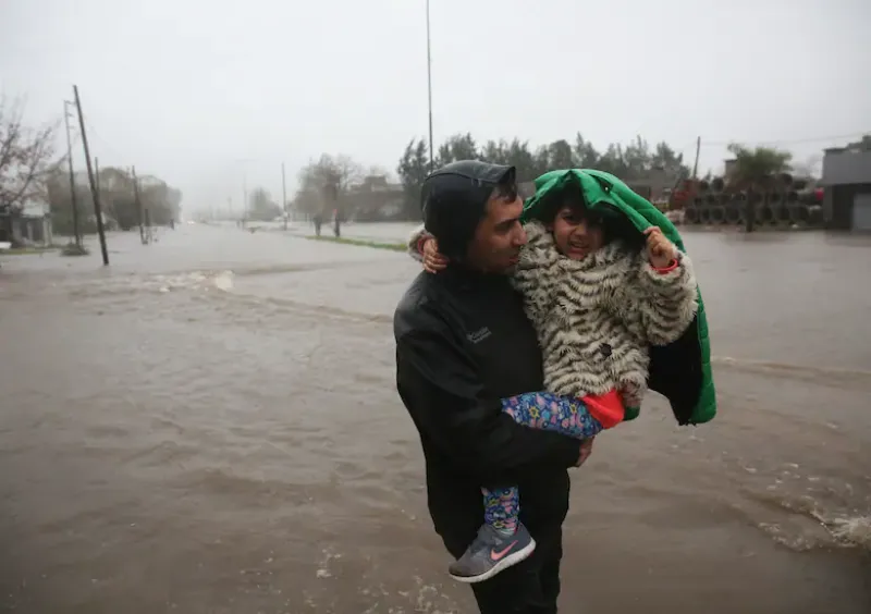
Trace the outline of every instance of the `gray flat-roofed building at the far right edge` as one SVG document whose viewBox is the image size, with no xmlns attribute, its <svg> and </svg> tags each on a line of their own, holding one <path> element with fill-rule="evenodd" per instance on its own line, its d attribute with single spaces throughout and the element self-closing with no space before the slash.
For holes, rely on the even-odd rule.
<svg viewBox="0 0 871 614">
<path fill-rule="evenodd" d="M 871 147 L 868 139 L 826 149 L 823 156 L 823 217 L 837 230 L 871 231 Z"/>
</svg>

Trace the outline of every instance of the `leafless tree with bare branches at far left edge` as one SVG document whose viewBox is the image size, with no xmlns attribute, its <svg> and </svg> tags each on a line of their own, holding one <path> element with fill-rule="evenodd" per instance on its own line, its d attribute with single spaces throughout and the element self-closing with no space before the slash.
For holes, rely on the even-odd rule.
<svg viewBox="0 0 871 614">
<path fill-rule="evenodd" d="M 28 198 L 45 193 L 57 164 L 51 163 L 56 128 L 57 123 L 27 127 L 22 101 L 0 97 L 0 211 L 15 214 Z"/>
</svg>

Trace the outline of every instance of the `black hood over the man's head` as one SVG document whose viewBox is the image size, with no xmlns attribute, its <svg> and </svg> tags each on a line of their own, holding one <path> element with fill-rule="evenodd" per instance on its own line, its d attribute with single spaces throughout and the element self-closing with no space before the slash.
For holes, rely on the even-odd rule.
<svg viewBox="0 0 871 614">
<path fill-rule="evenodd" d="M 493 188 L 514 177 L 514 167 L 461 160 L 433 171 L 424 181 L 424 225 L 438 240 L 442 254 L 453 259 L 465 255 Z"/>
</svg>

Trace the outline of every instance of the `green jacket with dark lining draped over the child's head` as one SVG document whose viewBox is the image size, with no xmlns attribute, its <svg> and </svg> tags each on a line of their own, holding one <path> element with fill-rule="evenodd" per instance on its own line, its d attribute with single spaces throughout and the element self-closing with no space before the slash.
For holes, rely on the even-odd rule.
<svg viewBox="0 0 871 614">
<path fill-rule="evenodd" d="M 551 171 L 535 183 L 536 194 L 524 206 L 524 221 L 540 216 L 551 199 L 560 197 L 564 191 L 579 187 L 590 210 L 603 216 L 623 217 L 639 234 L 652 225 L 659 226 L 678 249 L 686 253 L 674 224 L 650 201 L 610 173 L 592 169 Z M 649 384 L 668 398 L 682 425 L 707 422 L 716 414 L 708 320 L 701 292 L 696 319 L 687 332 L 670 345 L 651 346 Z"/>
</svg>

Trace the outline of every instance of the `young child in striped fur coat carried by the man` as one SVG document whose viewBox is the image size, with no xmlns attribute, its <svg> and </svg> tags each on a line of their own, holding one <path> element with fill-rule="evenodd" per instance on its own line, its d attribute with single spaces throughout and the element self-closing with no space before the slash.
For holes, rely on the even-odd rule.
<svg viewBox="0 0 871 614">
<path fill-rule="evenodd" d="M 637 414 L 649 347 L 675 342 L 697 310 L 689 258 L 659 228 L 641 235 L 601 209 L 590 207 L 579 183 L 551 191 L 525 224 L 528 243 L 512 272 L 538 334 L 548 392 L 503 400 L 503 410 L 578 439 L 616 426 L 627 410 Z M 430 272 L 449 263 L 422 226 L 409 250 Z M 535 550 L 519 521 L 518 489 L 482 492 L 484 524 L 449 569 L 464 582 L 486 580 Z"/>
</svg>

